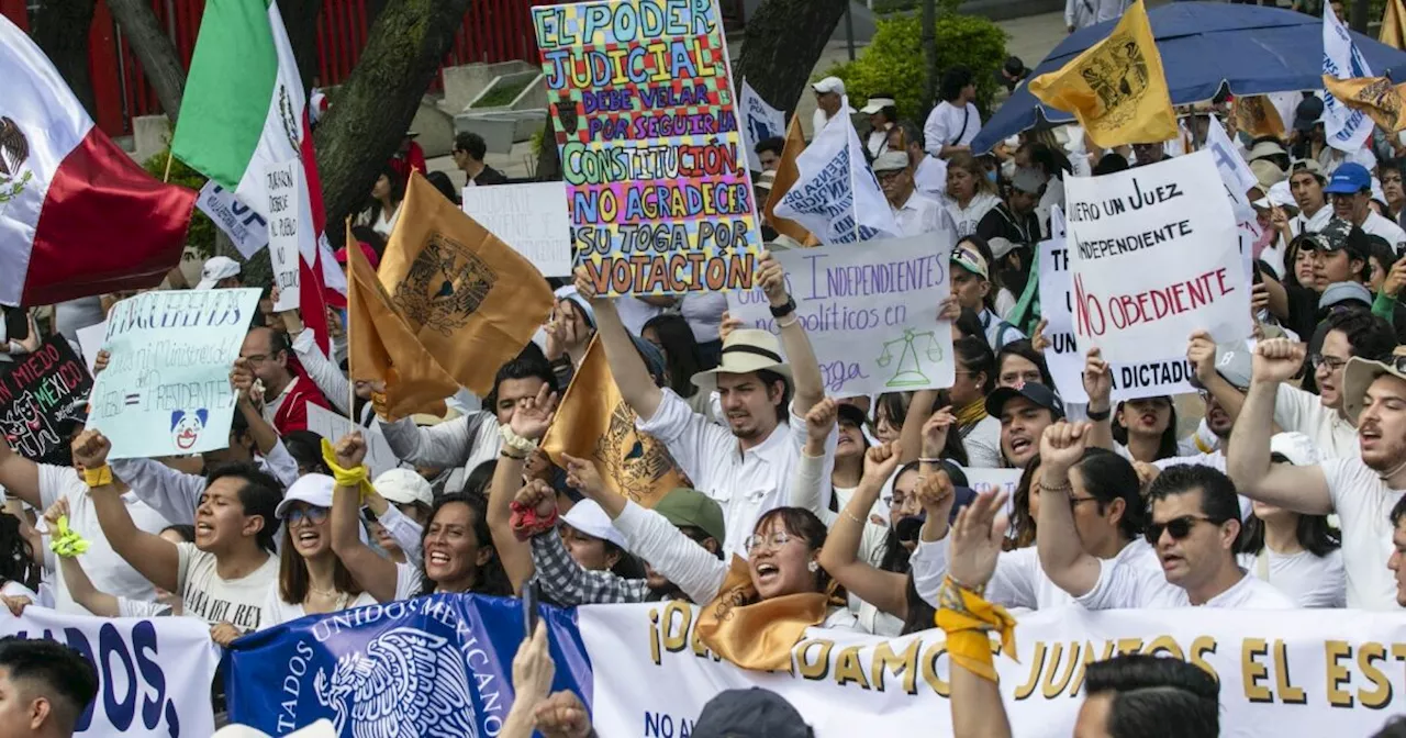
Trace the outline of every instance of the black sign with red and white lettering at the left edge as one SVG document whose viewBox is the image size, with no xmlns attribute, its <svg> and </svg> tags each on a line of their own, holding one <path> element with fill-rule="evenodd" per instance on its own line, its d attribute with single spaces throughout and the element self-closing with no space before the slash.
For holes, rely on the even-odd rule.
<svg viewBox="0 0 1406 738">
<path fill-rule="evenodd" d="M 0 375 L 0 433 L 20 455 L 51 461 L 69 443 L 65 423 L 82 422 L 93 380 L 59 335 L 10 367 Z"/>
</svg>

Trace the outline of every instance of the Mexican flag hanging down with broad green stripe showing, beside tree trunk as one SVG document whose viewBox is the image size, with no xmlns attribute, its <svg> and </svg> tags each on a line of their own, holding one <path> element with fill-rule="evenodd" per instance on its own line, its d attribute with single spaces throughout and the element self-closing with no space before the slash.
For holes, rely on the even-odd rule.
<svg viewBox="0 0 1406 738">
<path fill-rule="evenodd" d="M 307 108 L 277 3 L 207 1 L 172 153 L 266 219 L 266 169 L 301 163 L 307 190 L 297 198 L 302 321 L 326 351 L 323 305 L 344 305 L 347 281 L 323 236 L 322 184 Z"/>
</svg>

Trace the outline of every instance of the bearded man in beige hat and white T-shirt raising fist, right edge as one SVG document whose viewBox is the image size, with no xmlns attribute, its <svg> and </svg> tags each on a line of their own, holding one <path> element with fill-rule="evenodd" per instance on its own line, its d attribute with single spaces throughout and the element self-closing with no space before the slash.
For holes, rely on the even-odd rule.
<svg viewBox="0 0 1406 738">
<path fill-rule="evenodd" d="M 1386 361 L 1353 357 L 1343 371 L 1343 409 L 1357 423 L 1360 454 L 1317 465 L 1270 462 L 1275 394 L 1303 363 L 1305 347 L 1260 342 L 1244 408 L 1230 434 L 1227 471 L 1243 495 L 1302 514 L 1337 513 L 1343 527 L 1347 606 L 1396 609 L 1391 510 L 1406 491 L 1406 351 Z"/>
</svg>

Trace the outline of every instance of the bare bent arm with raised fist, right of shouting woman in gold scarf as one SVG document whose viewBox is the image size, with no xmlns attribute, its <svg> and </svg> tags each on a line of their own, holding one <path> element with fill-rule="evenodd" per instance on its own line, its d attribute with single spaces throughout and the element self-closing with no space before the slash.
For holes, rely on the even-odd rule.
<svg viewBox="0 0 1406 738">
<path fill-rule="evenodd" d="M 897 443 L 873 446 L 865 453 L 859 489 L 830 527 L 825 547 L 820 550 L 820 567 L 851 595 L 894 617 L 908 617 L 908 576 L 882 571 L 859 558 L 859 543 L 865 537 L 865 526 L 870 524 L 869 510 L 879 500 L 884 482 L 898 468 L 900 453 Z"/>
</svg>

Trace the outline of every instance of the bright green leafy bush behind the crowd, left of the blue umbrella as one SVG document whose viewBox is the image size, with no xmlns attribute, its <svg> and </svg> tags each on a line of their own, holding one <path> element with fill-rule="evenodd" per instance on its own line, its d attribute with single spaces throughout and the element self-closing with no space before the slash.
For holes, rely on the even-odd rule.
<svg viewBox="0 0 1406 738">
<path fill-rule="evenodd" d="M 825 72 L 845 80 L 845 91 L 853 107 L 862 105 L 870 96 L 891 93 L 898 104 L 898 115 L 922 121 L 928 115 L 924 108 L 924 86 L 936 89 L 938 80 L 929 80 L 922 58 L 922 27 L 918 17 L 903 15 L 879 21 L 873 42 L 865 48 L 859 59 L 837 65 Z M 995 96 L 995 72 L 1005 62 L 1005 31 L 997 24 L 976 15 L 941 13 L 935 25 L 938 69 L 946 70 L 965 65 L 976 76 L 977 107 L 990 110 Z M 929 96 L 936 100 L 935 94 Z"/>
</svg>

